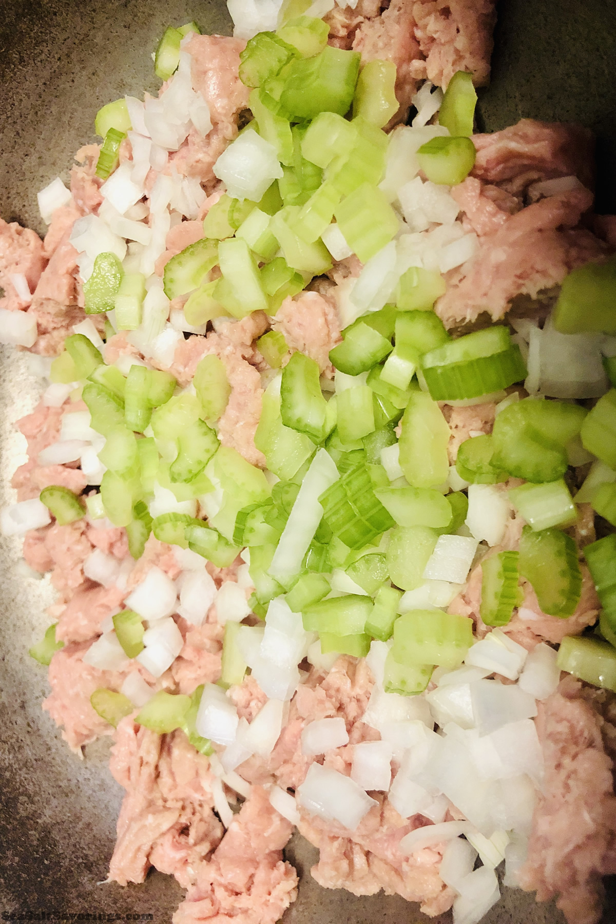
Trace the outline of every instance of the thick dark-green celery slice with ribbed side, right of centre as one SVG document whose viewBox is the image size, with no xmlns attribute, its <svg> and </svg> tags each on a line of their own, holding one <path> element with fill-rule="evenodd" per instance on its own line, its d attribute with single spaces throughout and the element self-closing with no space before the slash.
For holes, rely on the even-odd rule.
<svg viewBox="0 0 616 924">
<path fill-rule="evenodd" d="M 489 395 L 526 376 L 519 346 L 511 343 L 509 329 L 501 326 L 466 334 L 430 350 L 422 369 L 436 401 Z"/>
</svg>

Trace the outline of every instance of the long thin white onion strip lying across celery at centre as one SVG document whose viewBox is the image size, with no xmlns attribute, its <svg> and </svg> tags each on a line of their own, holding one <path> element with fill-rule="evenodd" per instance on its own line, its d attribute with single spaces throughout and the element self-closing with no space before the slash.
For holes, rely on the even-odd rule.
<svg viewBox="0 0 616 924">
<path fill-rule="evenodd" d="M 304 555 L 308 552 L 308 546 L 323 516 L 323 508 L 319 503 L 320 494 L 339 477 L 332 456 L 327 450 L 318 449 L 302 480 L 283 534 L 273 553 L 269 568 L 272 577 L 284 582 L 299 572 Z"/>
</svg>

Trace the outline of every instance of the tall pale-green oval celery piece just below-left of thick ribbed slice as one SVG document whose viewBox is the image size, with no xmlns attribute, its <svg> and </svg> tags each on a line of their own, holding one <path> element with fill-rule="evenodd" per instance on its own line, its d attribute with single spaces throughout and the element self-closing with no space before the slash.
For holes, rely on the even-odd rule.
<svg viewBox="0 0 616 924">
<path fill-rule="evenodd" d="M 402 419 L 400 466 L 414 488 L 434 488 L 449 474 L 449 424 L 425 392 L 413 392 Z"/>
</svg>

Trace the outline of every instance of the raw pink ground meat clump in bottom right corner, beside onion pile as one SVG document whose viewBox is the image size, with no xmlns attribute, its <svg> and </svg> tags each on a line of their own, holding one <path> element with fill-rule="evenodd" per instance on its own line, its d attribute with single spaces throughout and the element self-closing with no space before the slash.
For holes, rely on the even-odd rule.
<svg viewBox="0 0 616 924">
<path fill-rule="evenodd" d="M 545 784 L 520 881 L 526 890 L 537 890 L 537 901 L 559 896 L 556 904 L 571 924 L 598 924 L 600 877 L 616 872 L 613 768 L 596 696 L 606 695 L 568 676 L 538 703 L 536 720 Z"/>
</svg>

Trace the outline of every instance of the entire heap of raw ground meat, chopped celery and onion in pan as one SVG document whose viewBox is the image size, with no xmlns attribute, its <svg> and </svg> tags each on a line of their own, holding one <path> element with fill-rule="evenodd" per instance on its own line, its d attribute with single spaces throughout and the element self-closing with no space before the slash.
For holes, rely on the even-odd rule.
<svg viewBox="0 0 616 924">
<path fill-rule="evenodd" d="M 229 0 L 235 38 L 170 26 L 159 96 L 103 106 L 39 193 L 44 243 L 0 221 L 0 339 L 44 380 L 1 515 L 58 590 L 43 708 L 75 750 L 114 737 L 109 879 L 175 875 L 175 924 L 278 920 L 295 826 L 328 888 L 477 924 L 504 861 L 596 924 L 616 220 L 591 139 L 474 134 L 488 0 L 453 34 L 425 0 L 270 6 Z"/>
</svg>

